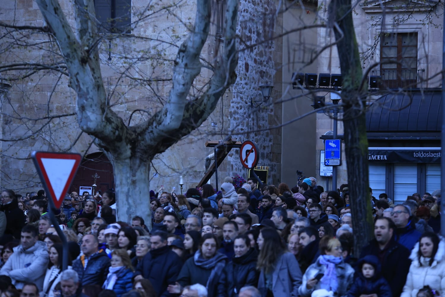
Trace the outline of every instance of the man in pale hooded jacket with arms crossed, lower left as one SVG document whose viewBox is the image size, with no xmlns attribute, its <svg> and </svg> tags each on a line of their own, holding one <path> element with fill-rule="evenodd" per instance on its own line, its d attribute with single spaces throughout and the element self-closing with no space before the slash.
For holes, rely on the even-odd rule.
<svg viewBox="0 0 445 297">
<path fill-rule="evenodd" d="M 46 244 L 38 241 L 39 231 L 32 225 L 25 225 L 21 231 L 20 245 L 0 270 L 0 275 L 11 277 L 12 284 L 22 289 L 24 283 L 33 282 L 42 290 L 43 280 L 48 266 Z"/>
</svg>

